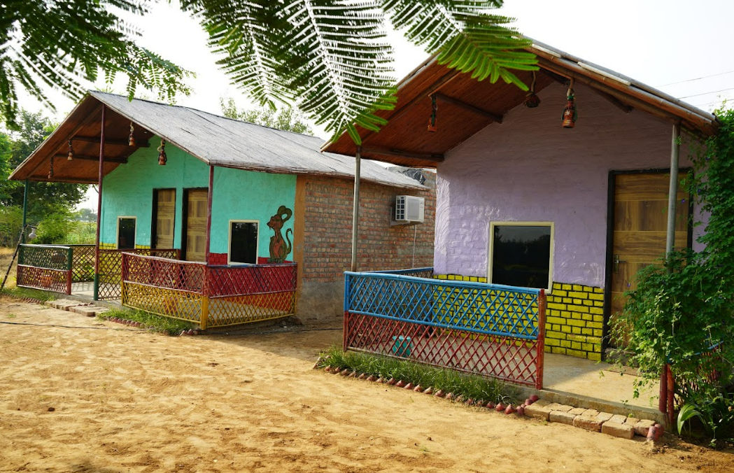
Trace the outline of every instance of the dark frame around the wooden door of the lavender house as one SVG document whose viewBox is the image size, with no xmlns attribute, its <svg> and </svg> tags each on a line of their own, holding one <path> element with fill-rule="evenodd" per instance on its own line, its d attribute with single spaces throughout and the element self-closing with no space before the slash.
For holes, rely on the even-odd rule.
<svg viewBox="0 0 734 473">
<path fill-rule="evenodd" d="M 609 318 L 611 317 L 611 267 L 614 260 L 614 183 L 617 176 L 624 174 L 669 174 L 670 167 L 634 170 L 610 170 L 607 184 L 606 198 L 606 256 L 604 259 L 604 325 L 602 328 L 601 357 L 606 359 L 606 349 L 609 339 Z M 692 167 L 678 167 L 678 173 L 692 175 Z M 693 200 L 688 198 L 688 248 L 693 246 Z"/>
</svg>

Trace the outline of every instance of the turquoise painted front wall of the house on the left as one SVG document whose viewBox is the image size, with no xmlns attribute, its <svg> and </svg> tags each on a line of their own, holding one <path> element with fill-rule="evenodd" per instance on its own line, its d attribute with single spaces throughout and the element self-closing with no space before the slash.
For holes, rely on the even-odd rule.
<svg viewBox="0 0 734 473">
<path fill-rule="evenodd" d="M 174 247 L 181 248 L 183 224 L 183 189 L 208 187 L 209 168 L 194 156 L 166 145 L 168 162 L 158 164 L 153 137 L 150 148 L 139 148 L 126 165 L 119 165 L 105 176 L 102 186 L 102 228 L 100 241 L 115 245 L 117 217 L 137 217 L 135 244 L 150 246 L 153 219 L 153 189 L 176 189 Z M 294 208 L 296 176 L 255 173 L 227 167 L 214 169 L 214 192 L 211 204 L 211 253 L 227 253 L 230 220 L 258 220 L 258 256 L 269 256 L 273 231 L 266 223 L 281 205 Z M 293 218 L 283 227 L 293 228 Z M 288 255 L 288 259 L 293 253 Z"/>
</svg>

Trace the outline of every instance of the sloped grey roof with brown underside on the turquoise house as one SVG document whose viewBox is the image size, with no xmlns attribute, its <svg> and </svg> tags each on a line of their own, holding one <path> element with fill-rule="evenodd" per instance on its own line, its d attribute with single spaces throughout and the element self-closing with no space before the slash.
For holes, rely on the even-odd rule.
<svg viewBox="0 0 734 473">
<path fill-rule="evenodd" d="M 185 106 L 92 91 L 59 127 L 10 175 L 34 181 L 97 182 L 101 105 L 107 107 L 104 173 L 126 163 L 137 147 L 127 145 L 130 123 L 139 146 L 155 135 L 207 165 L 269 173 L 354 177 L 354 159 L 321 153 L 319 137 L 272 129 Z M 74 156 L 67 161 L 68 142 Z M 49 177 L 51 159 L 54 173 Z M 363 160 L 361 178 L 392 187 L 424 189 L 412 178 Z"/>
</svg>

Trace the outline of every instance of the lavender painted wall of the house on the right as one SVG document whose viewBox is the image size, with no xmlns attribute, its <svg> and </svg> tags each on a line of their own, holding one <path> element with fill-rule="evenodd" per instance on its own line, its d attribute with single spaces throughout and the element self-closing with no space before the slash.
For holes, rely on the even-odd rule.
<svg viewBox="0 0 734 473">
<path fill-rule="evenodd" d="M 578 121 L 563 129 L 565 91 L 552 84 L 537 109 L 517 106 L 446 154 L 435 272 L 487 275 L 490 222 L 552 221 L 553 281 L 604 285 L 608 172 L 669 167 L 672 124 L 577 86 Z"/>
</svg>

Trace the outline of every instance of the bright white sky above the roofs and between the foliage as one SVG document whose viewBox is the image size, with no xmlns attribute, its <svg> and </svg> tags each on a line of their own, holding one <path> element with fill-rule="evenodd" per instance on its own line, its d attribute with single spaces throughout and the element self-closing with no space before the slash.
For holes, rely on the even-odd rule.
<svg viewBox="0 0 734 473">
<path fill-rule="evenodd" d="M 498 13 L 517 18 L 524 35 L 631 76 L 705 110 L 724 98 L 734 99 L 734 51 L 730 40 L 734 0 L 505 0 Z M 145 18 L 134 18 L 142 32 L 138 42 L 183 68 L 194 71 L 192 94 L 177 103 L 221 113 L 219 98 L 231 97 L 244 108 L 252 106 L 245 93 L 229 84 L 206 47 L 206 34 L 195 20 L 161 1 Z M 415 68 L 427 54 L 390 35 L 396 50 L 396 78 Z M 702 78 L 702 79 L 699 79 Z M 697 79 L 697 80 L 696 80 Z M 103 88 L 105 84 L 90 85 Z M 123 85 L 115 84 L 115 91 Z M 155 99 L 153 93 L 140 95 Z M 57 93 L 57 120 L 73 103 Z M 23 100 L 23 99 L 21 99 Z M 31 99 L 26 109 L 40 109 Z M 46 111 L 46 113 L 49 113 Z M 319 127 L 316 134 L 327 136 Z M 87 206 L 84 203 L 83 206 Z"/>
</svg>

